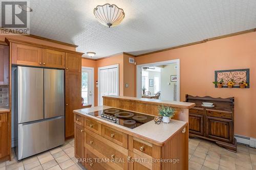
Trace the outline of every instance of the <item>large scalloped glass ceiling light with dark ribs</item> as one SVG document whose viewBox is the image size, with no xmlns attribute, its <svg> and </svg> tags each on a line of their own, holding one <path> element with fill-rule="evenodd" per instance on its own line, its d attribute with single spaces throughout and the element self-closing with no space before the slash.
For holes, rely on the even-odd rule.
<svg viewBox="0 0 256 170">
<path fill-rule="evenodd" d="M 119 25 L 124 18 L 123 9 L 115 4 L 98 5 L 94 8 L 94 15 L 102 25 L 109 28 Z"/>
</svg>

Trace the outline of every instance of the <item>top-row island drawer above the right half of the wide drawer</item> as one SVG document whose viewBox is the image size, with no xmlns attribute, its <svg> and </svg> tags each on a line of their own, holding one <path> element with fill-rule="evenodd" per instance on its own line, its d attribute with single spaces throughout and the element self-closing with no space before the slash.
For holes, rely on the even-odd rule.
<svg viewBox="0 0 256 170">
<path fill-rule="evenodd" d="M 128 149 L 128 135 L 123 132 L 102 125 L 101 136 Z"/>
</svg>

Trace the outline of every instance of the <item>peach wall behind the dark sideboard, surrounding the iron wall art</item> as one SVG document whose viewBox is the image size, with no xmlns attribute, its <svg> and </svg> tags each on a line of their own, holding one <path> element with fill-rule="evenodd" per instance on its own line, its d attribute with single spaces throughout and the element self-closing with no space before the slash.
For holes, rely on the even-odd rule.
<svg viewBox="0 0 256 170">
<path fill-rule="evenodd" d="M 136 58 L 137 64 L 180 59 L 180 96 L 234 96 L 235 134 L 256 138 L 256 32 Z M 215 70 L 250 68 L 249 89 L 215 88 Z M 135 79 L 136 81 L 136 79 Z"/>
</svg>

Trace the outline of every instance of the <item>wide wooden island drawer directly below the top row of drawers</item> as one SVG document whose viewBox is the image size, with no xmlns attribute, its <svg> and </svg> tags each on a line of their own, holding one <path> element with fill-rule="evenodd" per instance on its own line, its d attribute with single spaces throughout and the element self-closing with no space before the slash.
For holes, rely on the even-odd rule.
<svg viewBox="0 0 256 170">
<path fill-rule="evenodd" d="M 86 130 L 85 140 L 84 148 L 93 152 L 99 158 L 109 160 L 109 166 L 114 169 L 127 169 L 128 150 L 88 130 Z"/>
</svg>

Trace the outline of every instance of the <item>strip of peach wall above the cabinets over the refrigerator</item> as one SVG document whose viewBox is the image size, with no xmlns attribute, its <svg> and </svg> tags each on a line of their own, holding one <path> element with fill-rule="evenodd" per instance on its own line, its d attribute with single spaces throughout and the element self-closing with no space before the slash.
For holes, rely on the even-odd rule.
<svg viewBox="0 0 256 170">
<path fill-rule="evenodd" d="M 31 37 L 27 37 L 27 36 L 22 36 L 22 35 L 9 35 L 9 36 L 0 35 L 0 41 L 5 41 L 5 38 L 28 41 L 28 42 L 33 42 L 33 43 L 37 43 L 37 44 L 48 45 L 48 46 L 53 46 L 53 47 L 57 47 L 57 48 L 63 48 L 66 50 L 76 51 L 76 48 L 72 47 L 72 46 L 62 45 L 62 44 L 49 42 L 49 41 L 45 41 L 45 40 L 40 40 L 40 39 L 36 39 L 36 38 L 31 38 Z"/>
</svg>

